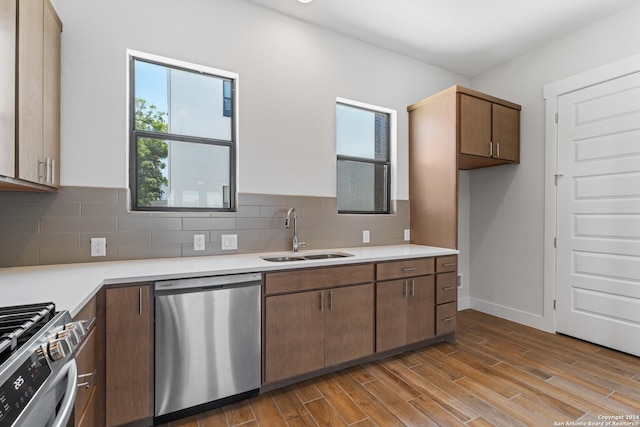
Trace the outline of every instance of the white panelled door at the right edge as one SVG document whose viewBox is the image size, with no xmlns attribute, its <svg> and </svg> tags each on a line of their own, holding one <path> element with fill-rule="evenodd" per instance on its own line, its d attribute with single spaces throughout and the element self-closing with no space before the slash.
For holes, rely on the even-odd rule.
<svg viewBox="0 0 640 427">
<path fill-rule="evenodd" d="M 558 97 L 556 329 L 640 356 L 640 73 Z"/>
</svg>

